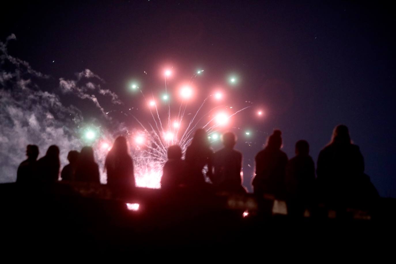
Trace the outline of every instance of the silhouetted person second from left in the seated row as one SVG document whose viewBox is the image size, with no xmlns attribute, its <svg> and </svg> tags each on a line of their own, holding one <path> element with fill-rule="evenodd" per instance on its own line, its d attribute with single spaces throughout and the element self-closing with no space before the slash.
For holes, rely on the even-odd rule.
<svg viewBox="0 0 396 264">
<path fill-rule="evenodd" d="M 49 146 L 46 156 L 37 161 L 37 177 L 42 182 L 51 183 L 56 182 L 59 177 L 59 168 L 61 163 L 59 161 L 58 146 Z"/>
</svg>

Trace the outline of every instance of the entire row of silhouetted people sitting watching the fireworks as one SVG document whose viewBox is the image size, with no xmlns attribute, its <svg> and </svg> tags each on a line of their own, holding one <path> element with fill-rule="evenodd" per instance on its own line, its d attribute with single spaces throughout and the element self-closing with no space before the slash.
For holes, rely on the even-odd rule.
<svg viewBox="0 0 396 264">
<path fill-rule="evenodd" d="M 359 147 L 352 144 L 348 128 L 338 125 L 331 141 L 320 152 L 316 171 L 305 140 L 295 144 L 295 157 L 287 158 L 282 148 L 282 133 L 274 130 L 265 148 L 255 156 L 254 193 L 258 198 L 285 199 L 290 208 L 301 211 L 314 199 L 323 201 L 368 201 L 378 196 L 369 177 L 364 174 L 364 160 Z M 197 129 L 191 144 L 183 153 L 180 146 L 168 148 L 168 161 L 163 168 L 161 188 L 185 187 L 195 190 L 211 188 L 226 192 L 246 192 L 243 187 L 242 153 L 234 149 L 236 136 L 222 135 L 224 148 L 213 152 L 204 129 Z M 17 182 L 56 182 L 59 177 L 59 148 L 52 145 L 46 155 L 37 160 L 36 145 L 28 145 L 27 160 L 19 165 Z M 93 149 L 84 146 L 72 150 L 69 164 L 61 171 L 61 180 L 77 182 L 99 181 L 99 166 Z M 105 160 L 107 185 L 119 192 L 129 192 L 135 186 L 133 159 L 125 137 L 117 137 Z M 315 173 L 316 172 L 316 173 Z M 208 182 L 206 177 L 210 179 Z"/>
</svg>

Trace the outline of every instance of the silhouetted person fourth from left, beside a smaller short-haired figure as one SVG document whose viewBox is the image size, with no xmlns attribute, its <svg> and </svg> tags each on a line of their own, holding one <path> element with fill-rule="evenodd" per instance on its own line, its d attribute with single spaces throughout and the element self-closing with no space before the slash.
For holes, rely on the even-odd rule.
<svg viewBox="0 0 396 264">
<path fill-rule="evenodd" d="M 84 146 L 78 156 L 75 180 L 100 183 L 99 166 L 93 157 L 93 149 L 89 146 Z"/>
</svg>

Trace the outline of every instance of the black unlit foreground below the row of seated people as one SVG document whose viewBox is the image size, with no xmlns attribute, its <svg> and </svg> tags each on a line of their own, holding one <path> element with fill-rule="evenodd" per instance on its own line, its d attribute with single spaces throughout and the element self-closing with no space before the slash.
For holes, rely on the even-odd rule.
<svg viewBox="0 0 396 264">
<path fill-rule="evenodd" d="M 0 184 L 3 252 L 130 253 L 158 249 L 175 254 L 269 249 L 336 251 L 392 247 L 394 199 L 379 199 L 369 209 L 335 212 L 320 207 L 310 216 L 290 217 L 282 202 L 267 199 L 257 210 L 252 195 L 191 193 L 137 188 L 126 197 L 106 186 L 59 183 L 35 189 Z M 137 211 L 126 203 L 139 203 Z M 244 215 L 244 212 L 246 213 Z M 238 251 L 234 251 L 238 250 Z M 385 248 L 383 249 L 385 250 Z M 228 254 L 228 253 L 227 253 Z"/>
</svg>

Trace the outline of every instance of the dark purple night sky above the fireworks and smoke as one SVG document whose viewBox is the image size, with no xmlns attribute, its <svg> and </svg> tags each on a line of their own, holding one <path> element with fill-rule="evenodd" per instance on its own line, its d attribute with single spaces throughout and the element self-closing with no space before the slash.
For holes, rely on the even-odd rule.
<svg viewBox="0 0 396 264">
<path fill-rule="evenodd" d="M 131 105 L 130 80 L 157 85 L 164 65 L 184 76 L 205 69 L 200 85 L 224 85 L 235 73 L 229 96 L 266 111 L 257 122 L 252 108 L 236 125 L 246 180 L 273 129 L 283 131 L 289 157 L 306 139 L 316 160 L 344 123 L 380 194 L 396 197 L 391 10 L 338 1 L 13 1 L 0 37 L 14 33 L 9 52 L 55 79 L 89 68 Z M 250 147 L 246 128 L 255 131 Z"/>
</svg>

